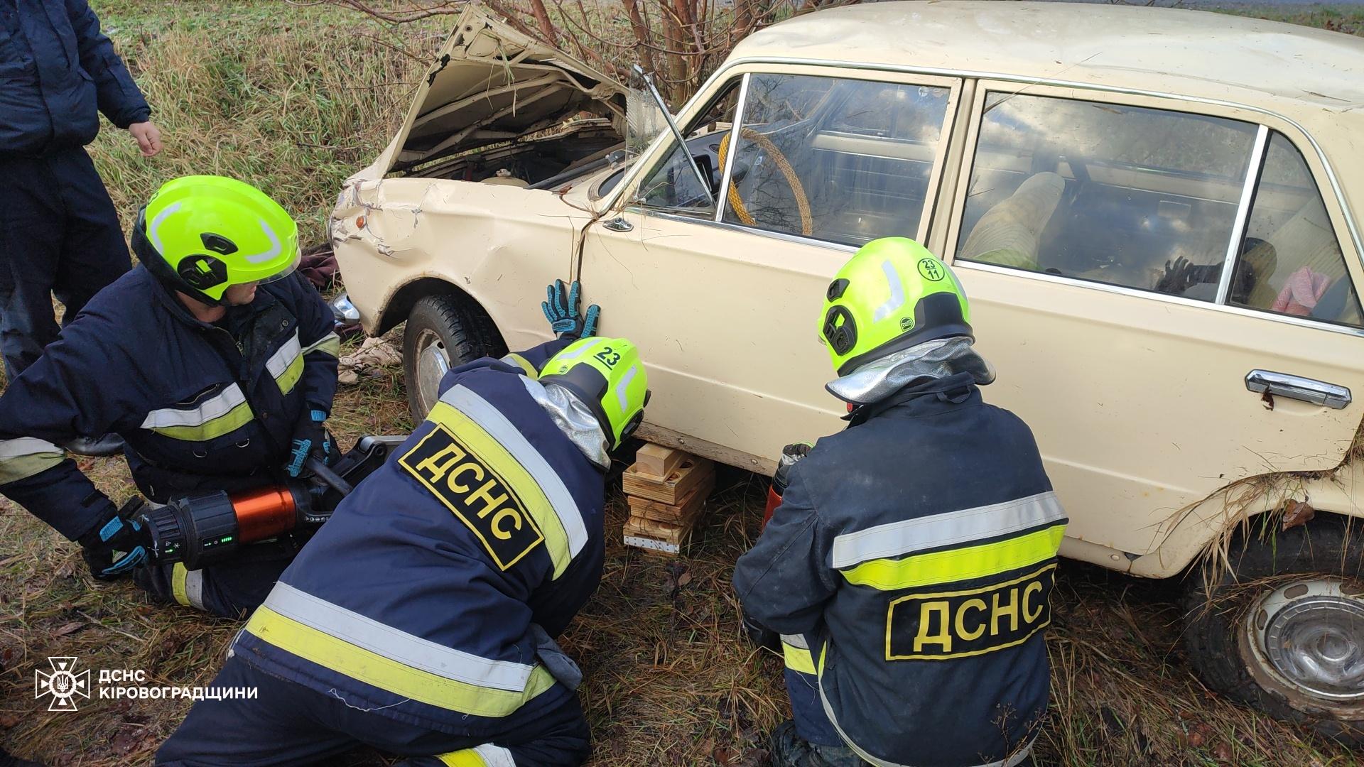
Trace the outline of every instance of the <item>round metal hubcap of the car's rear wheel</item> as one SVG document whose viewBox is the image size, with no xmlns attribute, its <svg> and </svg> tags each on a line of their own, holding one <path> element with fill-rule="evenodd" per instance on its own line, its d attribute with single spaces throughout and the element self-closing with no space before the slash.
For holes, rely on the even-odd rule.
<svg viewBox="0 0 1364 767">
<path fill-rule="evenodd" d="M 1245 628 L 1256 659 L 1289 686 L 1333 703 L 1359 703 L 1364 602 L 1341 585 L 1334 579 L 1281 585 L 1247 611 Z"/>
</svg>

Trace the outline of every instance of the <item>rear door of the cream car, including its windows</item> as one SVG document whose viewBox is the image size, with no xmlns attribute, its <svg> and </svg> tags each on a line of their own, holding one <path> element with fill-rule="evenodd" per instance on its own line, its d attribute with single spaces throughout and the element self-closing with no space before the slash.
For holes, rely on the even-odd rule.
<svg viewBox="0 0 1364 767">
<path fill-rule="evenodd" d="M 1360 426 L 1359 258 L 1319 160 L 1211 109 L 981 82 L 949 218 L 986 400 L 1037 434 L 1067 535 L 1133 555 L 1237 479 L 1338 465 Z"/>
</svg>

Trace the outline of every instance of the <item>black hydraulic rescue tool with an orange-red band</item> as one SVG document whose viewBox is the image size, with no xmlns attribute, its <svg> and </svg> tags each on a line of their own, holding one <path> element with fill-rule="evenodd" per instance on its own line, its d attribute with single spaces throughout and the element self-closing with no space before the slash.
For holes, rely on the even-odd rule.
<svg viewBox="0 0 1364 767">
<path fill-rule="evenodd" d="M 229 558 L 246 543 L 316 528 L 404 439 L 363 437 L 333 465 L 310 459 L 306 467 L 311 474 L 284 484 L 187 495 L 164 506 L 134 498 L 120 515 L 145 531 L 151 562 L 199 569 Z"/>
</svg>

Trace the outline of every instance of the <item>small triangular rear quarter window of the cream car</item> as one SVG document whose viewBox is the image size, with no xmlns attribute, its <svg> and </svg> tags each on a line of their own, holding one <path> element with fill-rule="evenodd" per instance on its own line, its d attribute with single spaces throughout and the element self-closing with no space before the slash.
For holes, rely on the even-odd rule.
<svg viewBox="0 0 1364 767">
<path fill-rule="evenodd" d="M 1303 154 L 1275 132 L 1245 227 L 1229 303 L 1361 326 L 1341 244 Z"/>
</svg>

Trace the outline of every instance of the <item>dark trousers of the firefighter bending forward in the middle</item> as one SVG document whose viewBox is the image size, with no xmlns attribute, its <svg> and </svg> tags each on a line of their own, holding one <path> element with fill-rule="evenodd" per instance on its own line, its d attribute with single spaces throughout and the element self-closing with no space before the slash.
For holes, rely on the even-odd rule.
<svg viewBox="0 0 1364 767">
<path fill-rule="evenodd" d="M 577 696 L 513 736 L 480 738 L 438 733 L 348 706 L 280 680 L 232 656 L 210 688 L 255 688 L 256 699 L 202 700 L 157 751 L 157 764 L 265 767 L 318 764 L 370 745 L 415 757 L 405 764 L 574 767 L 588 756 L 588 725 Z M 516 714 L 513 714 L 516 717 Z M 460 753 L 464 752 L 464 753 Z M 458 753 L 458 756 L 454 756 Z M 442 762 L 439 757 L 446 756 Z M 476 757 L 476 759 L 475 759 Z"/>
</svg>

